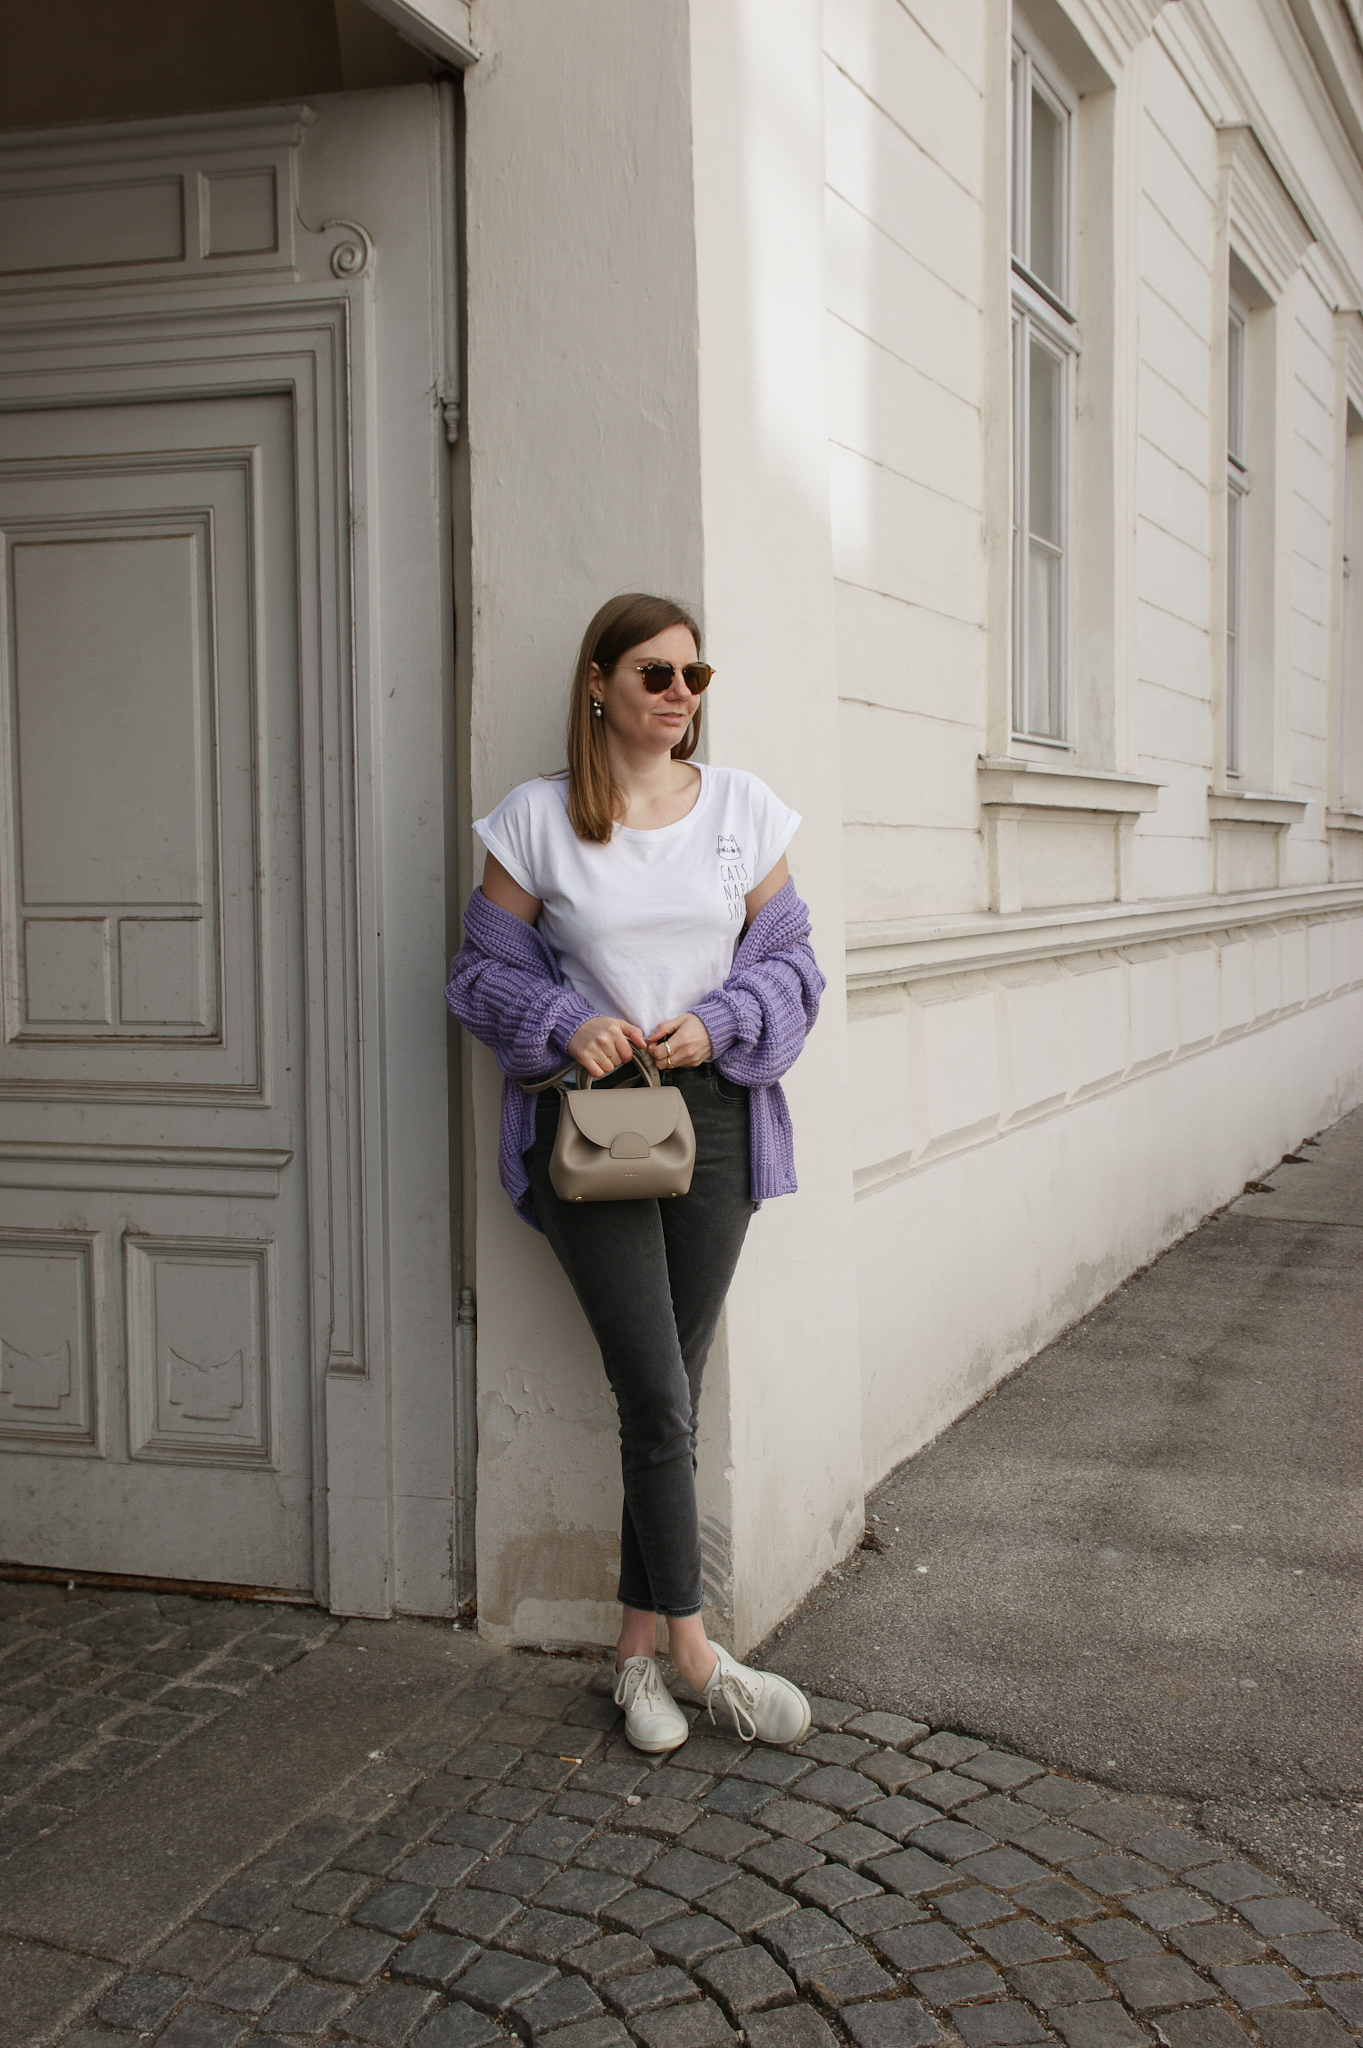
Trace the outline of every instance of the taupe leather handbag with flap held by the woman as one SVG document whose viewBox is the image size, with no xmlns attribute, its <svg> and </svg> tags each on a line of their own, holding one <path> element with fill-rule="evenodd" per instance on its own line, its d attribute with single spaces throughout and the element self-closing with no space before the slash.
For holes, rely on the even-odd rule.
<svg viewBox="0 0 1363 2048">
<path fill-rule="evenodd" d="M 630 1202 L 647 1196 L 686 1194 L 696 1167 L 696 1126 L 679 1087 L 663 1087 L 647 1053 L 634 1053 L 647 1087 L 591 1090 L 573 1067 L 548 1081 L 520 1085 L 528 1096 L 559 1090 L 559 1137 L 548 1180 L 561 1202 Z"/>
</svg>

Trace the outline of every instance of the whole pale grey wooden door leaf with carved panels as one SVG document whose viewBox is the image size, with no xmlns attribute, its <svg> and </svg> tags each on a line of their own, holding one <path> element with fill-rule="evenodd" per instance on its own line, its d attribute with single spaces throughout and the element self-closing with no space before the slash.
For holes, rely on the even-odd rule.
<svg viewBox="0 0 1363 2048">
<path fill-rule="evenodd" d="M 8 1556 L 307 1587 L 293 410 L 10 414 Z"/>
</svg>

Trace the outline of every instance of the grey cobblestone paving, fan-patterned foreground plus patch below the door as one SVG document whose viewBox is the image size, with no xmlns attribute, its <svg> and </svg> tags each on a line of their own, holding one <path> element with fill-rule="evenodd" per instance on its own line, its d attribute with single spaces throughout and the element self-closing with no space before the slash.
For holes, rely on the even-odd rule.
<svg viewBox="0 0 1363 2048">
<path fill-rule="evenodd" d="M 20 1835 L 338 1626 L 0 1599 Z M 618 1722 L 587 1659 L 463 1673 L 63 2048 L 1347 2048 L 1363 2030 L 1363 1944 L 1156 1802 L 866 1702 L 815 1702 L 798 1751 L 698 1720 L 653 1763 Z"/>
</svg>

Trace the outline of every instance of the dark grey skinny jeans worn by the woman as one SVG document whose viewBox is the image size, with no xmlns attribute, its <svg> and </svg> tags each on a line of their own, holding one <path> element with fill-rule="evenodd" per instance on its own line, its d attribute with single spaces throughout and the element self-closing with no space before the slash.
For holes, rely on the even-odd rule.
<svg viewBox="0 0 1363 2048">
<path fill-rule="evenodd" d="M 620 1069 L 622 1077 L 636 1069 Z M 598 1081 L 598 1087 L 612 1081 Z M 538 1100 L 526 1157 L 540 1229 L 573 1282 L 620 1415 L 620 1587 L 626 1608 L 700 1614 L 696 1411 L 714 1325 L 753 1214 L 747 1090 L 710 1061 L 665 1075 L 696 1126 L 682 1196 L 561 1202 L 548 1182 L 559 1096 Z"/>
</svg>

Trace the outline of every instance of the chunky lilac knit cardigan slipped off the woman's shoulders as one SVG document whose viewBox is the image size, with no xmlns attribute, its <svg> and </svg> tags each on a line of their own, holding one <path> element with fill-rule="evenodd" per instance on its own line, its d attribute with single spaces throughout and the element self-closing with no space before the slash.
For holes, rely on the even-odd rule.
<svg viewBox="0 0 1363 2048">
<path fill-rule="evenodd" d="M 808 911 L 786 883 L 761 905 L 739 942 L 724 985 L 696 1004 L 718 1071 L 749 1090 L 753 1200 L 794 1194 L 794 1135 L 780 1077 L 819 1016 L 825 979 L 808 944 Z M 526 1153 L 534 1143 L 536 1098 L 520 1081 L 555 1073 L 567 1042 L 596 1010 L 569 989 L 548 944 L 524 918 L 475 889 L 465 909 L 465 942 L 444 999 L 481 1038 L 501 1073 L 497 1167 L 516 1214 L 538 1231 Z"/>
</svg>

